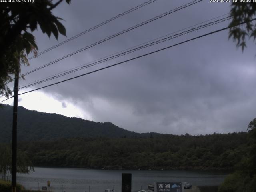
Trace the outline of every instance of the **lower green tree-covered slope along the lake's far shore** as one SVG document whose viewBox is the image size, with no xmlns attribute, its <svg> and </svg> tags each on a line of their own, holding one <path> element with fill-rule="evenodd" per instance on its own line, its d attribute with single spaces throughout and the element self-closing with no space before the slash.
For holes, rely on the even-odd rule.
<svg viewBox="0 0 256 192">
<path fill-rule="evenodd" d="M 248 133 L 20 142 L 34 166 L 232 170 L 250 151 Z"/>
</svg>

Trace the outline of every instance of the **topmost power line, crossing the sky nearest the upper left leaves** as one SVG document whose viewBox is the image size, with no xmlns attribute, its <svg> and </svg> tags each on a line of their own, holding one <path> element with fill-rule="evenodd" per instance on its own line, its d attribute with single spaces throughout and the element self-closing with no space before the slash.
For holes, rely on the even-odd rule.
<svg viewBox="0 0 256 192">
<path fill-rule="evenodd" d="M 46 52 L 48 52 L 48 51 L 50 51 L 50 50 L 53 50 L 54 48 L 57 48 L 58 46 L 61 46 L 61 45 L 65 44 L 65 43 L 67 43 L 67 42 L 69 42 L 69 41 L 71 41 L 71 40 L 74 40 L 74 39 L 76 39 L 76 38 L 78 38 L 78 37 L 80 37 L 80 36 L 82 36 L 82 35 L 84 35 L 84 34 L 90 32 L 90 31 L 92 31 L 92 30 L 94 30 L 94 29 L 96 29 L 96 28 L 99 28 L 100 26 L 103 26 L 104 24 L 107 24 L 107 23 L 109 23 L 109 22 L 111 22 L 111 21 L 113 21 L 113 20 L 115 20 L 115 19 L 117 19 L 117 18 L 119 18 L 119 17 L 121 17 L 121 16 L 124 16 L 124 15 L 126 15 L 126 14 L 128 14 L 128 13 L 130 13 L 130 12 L 133 12 L 133 11 L 135 11 L 135 10 L 137 10 L 137 9 L 139 9 L 139 8 L 142 8 L 142 7 L 148 5 L 148 4 L 152 3 L 152 2 L 155 2 L 155 1 L 157 1 L 157 0 L 149 0 L 149 1 L 147 1 L 147 2 L 144 2 L 144 3 L 142 3 L 142 4 L 140 4 L 140 5 L 136 6 L 136 7 L 134 7 L 134 8 L 131 8 L 131 9 L 128 10 L 128 11 L 125 11 L 125 12 L 123 12 L 123 13 L 121 13 L 121 14 L 118 14 L 118 15 L 116 15 L 116 16 L 114 16 L 114 17 L 112 17 L 112 18 L 110 18 L 110 19 L 108 19 L 108 20 L 106 20 L 106 21 L 104 21 L 104 22 L 102 22 L 102 23 L 100 23 L 100 24 L 94 26 L 94 27 L 91 27 L 90 29 L 85 30 L 84 32 L 81 32 L 81 33 L 79 33 L 79 34 L 77 34 L 77 35 L 75 35 L 75 36 L 73 36 L 73 37 L 71 37 L 71 38 L 69 38 L 69 39 L 67 39 L 67 40 L 65 40 L 65 41 L 60 42 L 59 44 L 56 44 L 55 46 L 52 46 L 52 47 L 50 47 L 50 48 L 48 48 L 48 49 L 46 49 L 46 50 L 44 50 L 44 51 L 38 53 L 37 56 L 40 56 L 40 55 L 42 55 L 42 54 L 44 54 L 44 53 L 46 53 Z M 32 56 L 32 57 L 28 58 L 28 60 L 31 60 L 31 59 L 33 59 L 33 58 L 36 58 L 37 56 Z"/>
</svg>

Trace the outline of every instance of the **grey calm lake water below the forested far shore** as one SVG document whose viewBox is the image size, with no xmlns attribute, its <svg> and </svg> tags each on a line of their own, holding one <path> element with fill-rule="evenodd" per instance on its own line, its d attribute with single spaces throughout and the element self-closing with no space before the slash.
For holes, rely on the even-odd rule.
<svg viewBox="0 0 256 192">
<path fill-rule="evenodd" d="M 227 176 L 220 171 L 182 170 L 94 170 L 82 168 L 35 167 L 30 174 L 17 174 L 17 182 L 27 189 L 42 191 L 51 182 L 52 192 L 103 192 L 114 188 L 121 191 L 121 174 L 132 174 L 132 191 L 146 189 L 154 182 L 189 182 L 196 186 L 219 185 Z"/>
</svg>

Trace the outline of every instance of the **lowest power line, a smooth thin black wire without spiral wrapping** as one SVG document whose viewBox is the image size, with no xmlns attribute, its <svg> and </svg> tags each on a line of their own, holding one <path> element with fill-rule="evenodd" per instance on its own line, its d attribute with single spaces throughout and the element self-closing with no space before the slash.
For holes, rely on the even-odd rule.
<svg viewBox="0 0 256 192">
<path fill-rule="evenodd" d="M 254 19 L 252 19 L 252 20 L 249 20 L 249 21 L 246 21 L 246 22 L 251 22 L 251 21 L 253 21 L 253 20 L 256 20 L 256 18 L 254 18 Z M 240 23 L 240 24 L 244 24 L 244 23 L 246 23 L 246 22 L 242 22 L 242 23 Z M 237 24 L 237 25 L 234 25 L 234 26 L 238 26 L 238 25 L 240 25 L 240 24 Z M 162 49 L 158 49 L 158 50 L 156 50 L 156 51 L 149 52 L 149 53 L 147 53 L 147 54 L 143 54 L 143 55 L 140 55 L 140 56 L 137 56 L 137 57 L 134 57 L 134 58 L 131 58 L 131 59 L 122 61 L 122 62 L 118 62 L 118 63 L 113 64 L 113 65 L 110 65 L 110 66 L 106 66 L 106 67 L 104 67 L 104 68 L 100 68 L 100 69 L 98 69 L 98 70 L 94 70 L 94 71 L 91 71 L 91 72 L 88 72 L 88 73 L 85 73 L 85 74 L 82 74 L 82 75 L 78 75 L 78 76 L 75 76 L 75 77 L 72 77 L 72 78 L 63 80 L 63 81 L 59 81 L 59 82 L 56 82 L 56 83 L 53 83 L 53 84 L 50 84 L 50 85 L 47 85 L 47 86 L 43 86 L 43 87 L 40 87 L 40 88 L 36 88 L 36 89 L 34 89 L 34 90 L 30 90 L 30 91 L 21 93 L 21 94 L 19 94 L 19 95 L 26 94 L 26 93 L 29 93 L 29 92 L 33 92 L 33 91 L 36 91 L 36 90 L 40 90 L 40 89 L 42 89 L 42 88 L 46 88 L 46 87 L 49 87 L 49 86 L 52 86 L 52 85 L 56 85 L 56 84 L 59 84 L 59 83 L 62 83 L 62 82 L 66 82 L 66 81 L 69 81 L 69 80 L 72 80 L 72 79 L 75 79 L 75 78 L 78 78 L 78 77 L 81 77 L 81 76 L 85 76 L 85 75 L 88 75 L 88 74 L 91 74 L 91 73 L 94 73 L 94 72 L 98 72 L 98 71 L 104 70 L 104 69 L 106 69 L 106 68 L 110 68 L 110 67 L 113 67 L 113 66 L 116 66 L 116 65 L 119 65 L 119 64 L 122 64 L 122 63 L 125 63 L 125 62 L 128 62 L 128 61 L 131 61 L 131 60 L 135 60 L 135 59 L 138 59 L 138 58 L 141 58 L 141 57 L 144 57 L 144 56 L 147 56 L 147 55 L 156 53 L 156 52 L 160 52 L 160 51 L 162 51 L 162 50 L 166 50 L 166 49 L 168 49 L 168 48 L 171 48 L 171 47 L 174 47 L 174 46 L 177 46 L 177 45 L 180 45 L 180 44 L 183 44 L 183 43 L 192 41 L 192 40 L 196 40 L 196 39 L 198 39 L 198 38 L 202 38 L 202 37 L 204 37 L 204 36 L 208 36 L 208 35 L 211 35 L 211 34 L 214 34 L 214 33 L 217 33 L 217 32 L 223 31 L 223 30 L 226 30 L 226 29 L 231 28 L 231 27 L 234 27 L 234 26 L 228 26 L 228 27 L 225 27 L 225 28 L 222 28 L 222 29 L 219 29 L 219 30 L 215 30 L 215 31 L 213 31 L 213 32 L 206 33 L 206 34 L 204 34 L 204 35 L 197 36 L 197 37 L 195 37 L 195 38 L 192 38 L 192 39 L 189 39 L 189 40 L 186 40 L 186 41 L 183 41 L 183 42 L 180 42 L 180 43 L 177 43 L 177 44 L 174 44 L 174 45 L 171 45 L 171 46 L 162 48 Z M 0 102 L 0 103 L 1 103 L 1 102 Z"/>
</svg>

